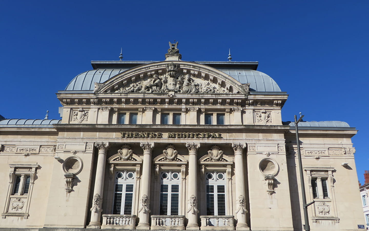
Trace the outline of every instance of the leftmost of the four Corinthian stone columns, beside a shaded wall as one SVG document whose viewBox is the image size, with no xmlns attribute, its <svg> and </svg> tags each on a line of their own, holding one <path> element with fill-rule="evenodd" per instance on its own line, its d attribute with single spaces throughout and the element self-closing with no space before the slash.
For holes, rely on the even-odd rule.
<svg viewBox="0 0 369 231">
<path fill-rule="evenodd" d="M 100 216 L 101 212 L 101 202 L 103 200 L 104 191 L 104 179 L 105 179 L 105 164 L 106 164 L 106 151 L 110 147 L 109 142 L 95 143 L 95 147 L 99 149 L 99 154 L 97 156 L 97 166 L 96 166 L 96 177 L 95 177 L 95 187 L 93 190 L 92 208 L 91 210 L 91 220 L 87 228 L 101 228 Z"/>
</svg>

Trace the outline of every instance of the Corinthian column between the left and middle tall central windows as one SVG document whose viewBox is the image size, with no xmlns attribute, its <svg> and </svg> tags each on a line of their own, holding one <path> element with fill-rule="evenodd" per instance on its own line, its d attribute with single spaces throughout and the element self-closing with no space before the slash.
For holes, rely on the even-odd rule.
<svg viewBox="0 0 369 231">
<path fill-rule="evenodd" d="M 142 178 L 141 178 L 141 205 L 138 210 L 139 223 L 138 230 L 149 230 L 149 204 L 150 204 L 150 176 L 151 176 L 151 152 L 154 148 L 154 143 L 141 143 L 144 149 L 144 160 L 142 163 Z"/>
</svg>

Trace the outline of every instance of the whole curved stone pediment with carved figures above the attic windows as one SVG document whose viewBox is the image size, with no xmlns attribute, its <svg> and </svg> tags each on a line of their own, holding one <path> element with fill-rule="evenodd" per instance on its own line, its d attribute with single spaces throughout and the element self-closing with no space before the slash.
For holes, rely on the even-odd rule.
<svg viewBox="0 0 369 231">
<path fill-rule="evenodd" d="M 247 85 L 247 84 L 246 84 Z M 96 93 L 247 94 L 245 84 L 203 64 L 162 61 L 124 71 L 104 83 L 95 83 Z"/>
</svg>

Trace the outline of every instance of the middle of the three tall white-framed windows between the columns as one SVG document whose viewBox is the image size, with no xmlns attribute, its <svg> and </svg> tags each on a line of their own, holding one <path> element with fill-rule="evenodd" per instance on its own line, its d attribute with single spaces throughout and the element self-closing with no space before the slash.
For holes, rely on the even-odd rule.
<svg viewBox="0 0 369 231">
<path fill-rule="evenodd" d="M 179 173 L 161 173 L 160 215 L 179 215 Z"/>
</svg>

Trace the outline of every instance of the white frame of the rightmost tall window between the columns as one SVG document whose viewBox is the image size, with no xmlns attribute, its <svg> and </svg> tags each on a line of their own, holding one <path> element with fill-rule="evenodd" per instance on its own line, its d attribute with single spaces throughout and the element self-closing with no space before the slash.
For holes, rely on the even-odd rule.
<svg viewBox="0 0 369 231">
<path fill-rule="evenodd" d="M 213 174 L 213 178 L 208 179 L 208 174 Z M 223 179 L 219 179 L 220 174 L 223 175 Z M 216 176 L 216 177 L 214 177 Z M 205 173 L 205 187 L 212 185 L 214 186 L 214 216 L 218 216 L 218 185 L 224 186 L 224 215 L 227 214 L 227 182 L 226 182 L 226 173 L 225 172 L 218 172 L 216 170 L 214 171 L 207 171 Z M 205 188 L 205 194 L 206 194 L 206 204 L 207 204 L 207 190 Z M 223 193 L 222 193 L 223 194 Z M 206 208 L 206 215 L 207 214 L 207 208 Z"/>
</svg>

